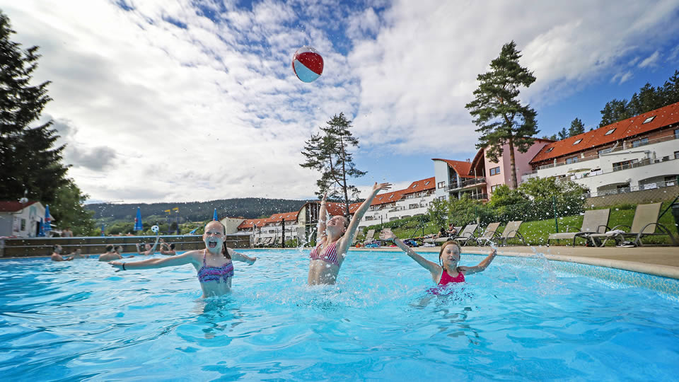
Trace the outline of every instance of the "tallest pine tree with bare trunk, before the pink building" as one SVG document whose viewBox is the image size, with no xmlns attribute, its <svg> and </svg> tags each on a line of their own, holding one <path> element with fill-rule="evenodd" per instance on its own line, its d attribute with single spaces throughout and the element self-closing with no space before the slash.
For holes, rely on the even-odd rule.
<svg viewBox="0 0 679 382">
<path fill-rule="evenodd" d="M 481 133 L 477 149 L 485 148 L 487 157 L 497 161 L 502 146 L 509 145 L 512 188 L 518 184 L 514 148 L 525 153 L 535 140 L 533 136 L 538 134 L 537 113 L 530 105 L 521 105 L 518 99 L 518 87 L 535 82 L 533 72 L 518 63 L 520 53 L 515 42 L 505 44 L 499 57 L 490 63 L 491 70 L 477 76 L 480 85 L 474 91 L 475 99 L 465 105 L 475 117 L 473 121 L 479 127 L 476 131 Z"/>
</svg>

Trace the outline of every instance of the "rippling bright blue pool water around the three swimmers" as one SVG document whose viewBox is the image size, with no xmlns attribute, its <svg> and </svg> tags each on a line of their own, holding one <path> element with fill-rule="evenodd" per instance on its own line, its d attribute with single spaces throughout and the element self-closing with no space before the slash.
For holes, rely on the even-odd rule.
<svg viewBox="0 0 679 382">
<path fill-rule="evenodd" d="M 307 287 L 307 253 L 246 251 L 233 293 L 189 265 L 0 261 L 11 380 L 651 380 L 679 375 L 676 296 L 498 257 L 451 296 L 402 253 L 352 252 Z M 425 257 L 436 261 L 436 253 Z M 483 257 L 463 255 L 463 265 Z M 131 259 L 130 261 L 133 261 Z M 676 282 L 676 280 L 668 280 Z"/>
</svg>

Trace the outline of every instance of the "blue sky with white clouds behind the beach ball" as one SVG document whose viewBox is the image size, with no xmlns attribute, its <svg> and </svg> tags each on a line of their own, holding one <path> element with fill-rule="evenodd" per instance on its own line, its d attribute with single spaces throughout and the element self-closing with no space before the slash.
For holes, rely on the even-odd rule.
<svg viewBox="0 0 679 382">
<path fill-rule="evenodd" d="M 40 47 L 68 176 L 90 202 L 313 198 L 301 168 L 334 115 L 359 139 L 352 180 L 395 189 L 431 158 L 473 158 L 465 104 L 502 45 L 535 83 L 539 137 L 679 69 L 679 1 L 0 0 L 13 40 Z M 323 55 L 299 81 L 298 48 Z"/>
</svg>

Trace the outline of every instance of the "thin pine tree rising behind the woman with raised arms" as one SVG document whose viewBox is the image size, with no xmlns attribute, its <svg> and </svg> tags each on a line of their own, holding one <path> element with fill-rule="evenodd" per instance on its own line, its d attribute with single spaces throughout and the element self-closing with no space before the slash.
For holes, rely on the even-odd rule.
<svg viewBox="0 0 679 382">
<path fill-rule="evenodd" d="M 311 134 L 311 139 L 304 142 L 306 149 L 302 151 L 302 155 L 306 157 L 306 162 L 300 166 L 320 171 L 320 179 L 316 181 L 316 195 L 320 198 L 327 192 L 328 199 L 344 199 L 346 214 L 349 216 L 349 193 L 355 198 L 359 190 L 356 186 L 349 185 L 347 179 L 366 174 L 356 168 L 349 152 L 351 147 L 359 146 L 359 140 L 352 136 L 349 130 L 352 122 L 342 112 L 326 123 L 326 127 L 320 128 L 321 132 Z"/>
</svg>

